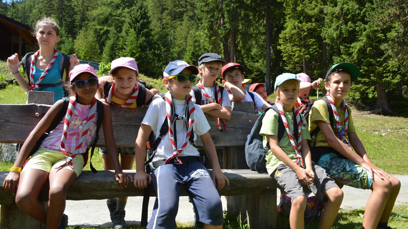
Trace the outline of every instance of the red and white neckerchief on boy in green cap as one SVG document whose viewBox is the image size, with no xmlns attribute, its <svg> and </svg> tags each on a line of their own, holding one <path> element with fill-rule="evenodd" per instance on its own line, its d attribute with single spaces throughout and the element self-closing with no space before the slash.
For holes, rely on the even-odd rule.
<svg viewBox="0 0 408 229">
<path fill-rule="evenodd" d="M 337 112 L 336 105 L 334 103 L 333 98 L 330 96 L 329 93 L 326 94 L 326 97 L 332 107 L 335 123 L 336 123 L 336 135 L 337 138 L 340 139 L 344 144 L 351 148 L 351 143 L 348 141 L 347 130 L 348 130 L 348 110 L 347 104 L 344 102 L 344 99 L 341 101 L 341 107 L 344 110 L 344 127 L 341 126 L 339 113 Z"/>
</svg>

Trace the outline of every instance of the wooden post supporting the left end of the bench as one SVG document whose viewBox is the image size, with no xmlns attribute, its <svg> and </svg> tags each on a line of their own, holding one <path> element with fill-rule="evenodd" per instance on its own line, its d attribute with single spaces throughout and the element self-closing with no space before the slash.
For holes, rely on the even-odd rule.
<svg viewBox="0 0 408 229">
<path fill-rule="evenodd" d="M 54 92 L 50 91 L 29 91 L 28 103 L 38 104 L 54 104 Z M 47 208 L 46 201 L 43 202 Z M 10 204 L 1 205 L 0 208 L 0 229 L 44 229 L 45 225 L 31 218 L 25 212 L 21 211 L 16 205 L 16 201 L 13 200 Z"/>
</svg>

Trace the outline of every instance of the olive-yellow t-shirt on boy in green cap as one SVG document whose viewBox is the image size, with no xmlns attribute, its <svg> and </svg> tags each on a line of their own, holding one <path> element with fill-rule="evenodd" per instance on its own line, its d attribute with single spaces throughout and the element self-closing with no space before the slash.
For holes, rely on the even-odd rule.
<svg viewBox="0 0 408 229">
<path fill-rule="evenodd" d="M 337 109 L 337 112 L 339 113 L 341 126 L 344 126 L 344 110 L 343 108 L 340 108 L 340 107 L 336 107 L 336 109 Z M 350 133 L 355 132 L 355 128 L 353 124 L 353 118 L 351 117 L 351 108 L 349 106 L 347 106 L 347 111 L 348 111 L 347 133 L 350 134 Z M 310 132 L 312 132 L 317 127 L 317 120 L 322 120 L 322 121 L 325 121 L 326 123 L 330 123 L 327 105 L 326 105 L 326 102 L 323 101 L 322 99 L 316 100 L 313 103 L 312 108 L 310 109 L 310 112 L 309 112 L 309 131 Z M 313 145 L 313 143 L 315 142 L 315 137 L 311 136 L 311 139 L 308 142 L 309 142 L 309 145 Z M 319 131 L 316 135 L 315 146 L 330 147 L 322 131 Z"/>
</svg>

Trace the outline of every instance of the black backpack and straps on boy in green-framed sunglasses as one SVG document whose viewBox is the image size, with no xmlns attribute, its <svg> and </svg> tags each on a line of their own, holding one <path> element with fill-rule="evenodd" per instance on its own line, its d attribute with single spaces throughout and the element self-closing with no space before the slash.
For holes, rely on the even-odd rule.
<svg viewBox="0 0 408 229">
<path fill-rule="evenodd" d="M 198 87 L 197 87 L 198 88 Z M 158 94 L 162 99 L 164 100 L 164 93 Z M 200 92 L 201 95 L 201 92 Z M 201 100 L 197 100 L 201 101 Z M 187 112 L 188 114 L 188 112 Z M 188 118 L 187 118 L 188 119 Z M 157 152 L 157 146 L 159 145 L 160 141 L 162 141 L 162 138 L 164 137 L 165 134 L 169 132 L 169 123 L 167 121 L 167 118 L 164 118 L 162 127 L 160 128 L 159 131 L 159 136 L 155 136 L 153 130 L 150 133 L 149 137 L 147 138 L 147 160 L 145 161 L 144 165 L 146 167 L 146 172 L 151 173 L 155 168 L 161 166 L 164 164 L 165 160 L 158 160 L 158 161 L 153 161 L 153 158 Z M 194 130 L 191 130 L 190 137 L 188 139 L 190 141 L 191 145 L 195 146 L 194 144 Z M 204 156 L 182 156 L 183 162 L 184 163 L 189 163 L 189 162 L 200 162 L 204 164 Z M 174 160 L 173 160 L 174 162 Z M 173 163 L 172 161 L 170 163 Z M 150 198 L 150 189 L 151 189 L 152 184 L 149 184 L 147 188 L 143 190 L 143 202 L 142 202 L 142 218 L 140 220 L 140 226 L 146 227 L 147 226 L 147 213 L 148 213 L 148 207 L 149 207 L 149 198 Z"/>
</svg>

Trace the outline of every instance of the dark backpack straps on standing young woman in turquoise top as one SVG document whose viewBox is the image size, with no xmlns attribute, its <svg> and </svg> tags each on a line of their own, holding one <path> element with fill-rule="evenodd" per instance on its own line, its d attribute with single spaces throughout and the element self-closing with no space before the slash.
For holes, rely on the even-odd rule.
<svg viewBox="0 0 408 229">
<path fill-rule="evenodd" d="M 22 59 L 21 59 L 21 64 L 23 66 L 24 70 L 24 77 L 27 80 L 27 84 L 30 85 L 30 66 L 31 66 L 31 57 L 34 53 L 27 53 Z M 68 75 L 69 75 L 69 56 L 65 53 L 61 53 L 62 58 L 60 62 L 60 70 L 61 70 L 61 82 L 55 83 L 55 84 L 39 84 L 38 90 L 42 90 L 42 88 L 47 88 L 47 87 L 55 87 L 55 86 L 60 86 L 62 85 L 62 82 L 64 82 Z M 65 91 L 65 96 L 68 96 L 67 91 Z"/>
</svg>

